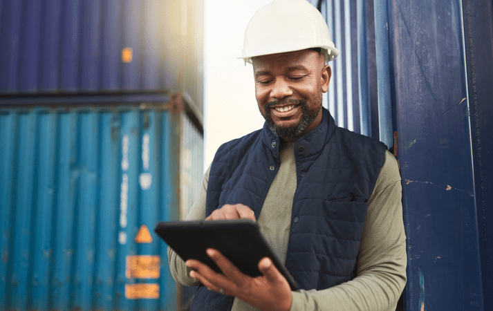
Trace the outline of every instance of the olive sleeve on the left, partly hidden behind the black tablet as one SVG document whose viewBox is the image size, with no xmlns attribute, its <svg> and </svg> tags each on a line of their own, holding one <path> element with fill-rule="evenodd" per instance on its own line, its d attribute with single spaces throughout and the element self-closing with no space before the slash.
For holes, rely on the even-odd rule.
<svg viewBox="0 0 493 311">
<path fill-rule="evenodd" d="M 202 180 L 202 185 L 198 190 L 198 195 L 192 205 L 192 208 L 189 210 L 187 217 L 185 220 L 202 220 L 205 219 L 205 198 L 207 196 L 207 184 L 209 183 L 209 173 L 210 167 L 205 171 L 204 178 Z M 168 246 L 168 262 L 169 262 L 169 270 L 171 270 L 171 276 L 173 279 L 185 286 L 196 286 L 200 285 L 196 279 L 191 278 L 190 271 L 187 266 L 185 266 L 185 261 L 183 261 L 176 252 Z"/>
</svg>

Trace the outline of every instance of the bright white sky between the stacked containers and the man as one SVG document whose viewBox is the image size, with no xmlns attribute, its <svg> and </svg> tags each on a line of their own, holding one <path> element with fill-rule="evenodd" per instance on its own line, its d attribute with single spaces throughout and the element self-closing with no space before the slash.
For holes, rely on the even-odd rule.
<svg viewBox="0 0 493 311">
<path fill-rule="evenodd" d="M 252 65 L 241 55 L 248 22 L 272 0 L 205 0 L 204 170 L 224 142 L 260 129 Z"/>
</svg>

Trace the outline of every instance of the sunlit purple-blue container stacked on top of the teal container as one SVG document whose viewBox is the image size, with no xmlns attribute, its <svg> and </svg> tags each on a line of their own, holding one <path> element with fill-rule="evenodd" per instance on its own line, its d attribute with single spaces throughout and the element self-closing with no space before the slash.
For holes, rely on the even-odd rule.
<svg viewBox="0 0 493 311">
<path fill-rule="evenodd" d="M 203 111 L 203 0 L 4 0 L 0 94 L 187 93 Z"/>
</svg>

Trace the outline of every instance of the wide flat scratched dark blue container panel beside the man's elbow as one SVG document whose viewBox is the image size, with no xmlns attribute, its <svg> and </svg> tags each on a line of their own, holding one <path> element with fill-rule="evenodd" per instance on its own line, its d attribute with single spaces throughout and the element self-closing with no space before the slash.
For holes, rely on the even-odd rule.
<svg viewBox="0 0 493 311">
<path fill-rule="evenodd" d="M 483 310 L 461 1 L 388 3 L 406 310 Z"/>
</svg>

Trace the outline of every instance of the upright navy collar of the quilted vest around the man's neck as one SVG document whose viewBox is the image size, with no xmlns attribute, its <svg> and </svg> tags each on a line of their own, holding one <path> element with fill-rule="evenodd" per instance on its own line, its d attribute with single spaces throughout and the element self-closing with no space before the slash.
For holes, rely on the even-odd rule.
<svg viewBox="0 0 493 311">
<path fill-rule="evenodd" d="M 335 130 L 335 121 L 331 113 L 322 107 L 322 122 L 295 142 L 295 153 L 298 158 L 307 158 L 320 153 L 324 145 L 331 139 Z M 280 138 L 270 131 L 267 123 L 263 124 L 262 140 L 267 149 L 272 151 L 272 156 L 279 158 Z"/>
</svg>

